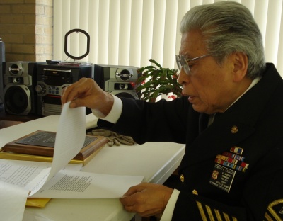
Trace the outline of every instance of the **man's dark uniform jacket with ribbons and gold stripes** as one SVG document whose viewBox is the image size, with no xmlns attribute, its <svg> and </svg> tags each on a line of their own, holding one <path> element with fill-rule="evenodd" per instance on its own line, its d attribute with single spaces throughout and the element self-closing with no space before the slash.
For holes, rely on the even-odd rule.
<svg viewBox="0 0 283 221">
<path fill-rule="evenodd" d="M 139 144 L 186 144 L 172 220 L 283 220 L 283 81 L 273 64 L 207 128 L 187 97 L 122 103 L 115 125 L 98 125 Z"/>
</svg>

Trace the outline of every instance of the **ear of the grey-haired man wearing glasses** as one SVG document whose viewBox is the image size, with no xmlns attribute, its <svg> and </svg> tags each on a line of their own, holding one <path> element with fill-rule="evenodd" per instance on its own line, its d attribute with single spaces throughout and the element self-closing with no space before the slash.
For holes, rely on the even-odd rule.
<svg viewBox="0 0 283 221">
<path fill-rule="evenodd" d="M 233 81 L 241 81 L 246 77 L 248 69 L 248 55 L 243 52 L 235 52 L 232 55 L 233 60 Z"/>
</svg>

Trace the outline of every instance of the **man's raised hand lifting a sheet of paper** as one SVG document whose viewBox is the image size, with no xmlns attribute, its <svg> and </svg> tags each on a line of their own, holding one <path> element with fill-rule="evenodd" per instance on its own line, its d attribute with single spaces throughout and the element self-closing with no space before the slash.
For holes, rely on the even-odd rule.
<svg viewBox="0 0 283 221">
<path fill-rule="evenodd" d="M 108 115 L 113 105 L 112 95 L 90 78 L 81 78 L 63 89 L 62 105 L 68 101 L 71 101 L 70 108 L 85 106 L 98 111 L 102 117 Z"/>
</svg>

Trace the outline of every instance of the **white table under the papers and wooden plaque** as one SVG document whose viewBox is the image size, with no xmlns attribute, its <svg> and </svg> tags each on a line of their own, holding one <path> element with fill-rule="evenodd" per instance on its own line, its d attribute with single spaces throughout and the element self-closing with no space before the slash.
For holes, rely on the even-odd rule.
<svg viewBox="0 0 283 221">
<path fill-rule="evenodd" d="M 57 130 L 59 115 L 30 120 L 0 130 L 0 147 L 35 130 Z M 170 142 L 146 142 L 144 145 L 105 145 L 83 171 L 100 174 L 141 175 L 144 181 L 163 183 L 180 165 L 185 145 Z M 119 199 L 52 199 L 45 208 L 25 208 L 23 220 L 131 220 Z"/>
</svg>

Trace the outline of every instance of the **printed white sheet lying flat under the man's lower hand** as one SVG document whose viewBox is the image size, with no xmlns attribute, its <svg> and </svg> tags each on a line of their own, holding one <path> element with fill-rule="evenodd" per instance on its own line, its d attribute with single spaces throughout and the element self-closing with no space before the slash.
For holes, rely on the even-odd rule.
<svg viewBox="0 0 283 221">
<path fill-rule="evenodd" d="M 35 198 L 120 198 L 143 176 L 117 176 L 88 172 L 59 171 Z"/>
</svg>

